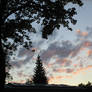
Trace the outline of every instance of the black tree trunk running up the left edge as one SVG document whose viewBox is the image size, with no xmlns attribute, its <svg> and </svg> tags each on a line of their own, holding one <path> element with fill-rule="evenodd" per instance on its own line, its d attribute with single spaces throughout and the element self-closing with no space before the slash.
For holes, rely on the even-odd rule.
<svg viewBox="0 0 92 92">
<path fill-rule="evenodd" d="M 4 16 L 6 10 L 7 0 L 0 0 L 0 88 L 4 88 L 6 72 L 5 72 L 5 61 L 6 61 L 6 52 L 2 44 L 3 38 L 3 29 L 4 26 Z"/>
</svg>

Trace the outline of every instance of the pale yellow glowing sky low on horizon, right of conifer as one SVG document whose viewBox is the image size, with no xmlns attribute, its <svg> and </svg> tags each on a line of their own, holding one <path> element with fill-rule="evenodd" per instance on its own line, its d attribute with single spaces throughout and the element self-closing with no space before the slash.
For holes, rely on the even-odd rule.
<svg viewBox="0 0 92 92">
<path fill-rule="evenodd" d="M 75 85 L 75 86 L 79 85 L 80 83 L 87 84 L 88 81 L 92 82 L 91 72 L 92 72 L 92 66 L 89 66 L 84 69 L 80 69 L 69 76 L 51 77 L 49 79 L 49 84 L 66 84 L 66 85 Z"/>
</svg>

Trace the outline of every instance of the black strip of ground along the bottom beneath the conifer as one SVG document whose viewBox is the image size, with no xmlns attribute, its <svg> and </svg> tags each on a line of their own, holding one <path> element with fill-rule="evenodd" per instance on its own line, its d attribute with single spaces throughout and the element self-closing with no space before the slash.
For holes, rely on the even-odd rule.
<svg viewBox="0 0 92 92">
<path fill-rule="evenodd" d="M 80 91 L 81 90 L 81 91 Z M 77 87 L 77 86 L 67 86 L 67 85 L 31 85 L 31 86 L 24 86 L 24 85 L 11 85 L 11 86 L 5 86 L 4 91 L 5 92 L 65 92 L 65 91 L 77 91 L 77 92 L 92 92 L 92 87 Z"/>
</svg>

